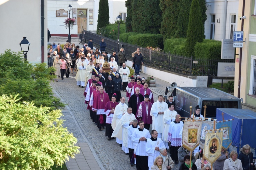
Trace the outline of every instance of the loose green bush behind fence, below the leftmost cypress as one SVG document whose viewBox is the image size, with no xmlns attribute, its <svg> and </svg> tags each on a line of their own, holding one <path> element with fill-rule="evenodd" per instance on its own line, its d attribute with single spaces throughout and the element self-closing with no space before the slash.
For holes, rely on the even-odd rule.
<svg viewBox="0 0 256 170">
<path fill-rule="evenodd" d="M 125 33 L 125 24 L 120 24 L 120 34 Z M 106 27 L 100 28 L 99 35 L 102 35 L 104 37 L 108 37 L 114 40 L 117 40 L 117 34 L 118 34 L 118 24 L 108 24 Z M 120 39 L 120 37 L 119 37 Z"/>
</svg>

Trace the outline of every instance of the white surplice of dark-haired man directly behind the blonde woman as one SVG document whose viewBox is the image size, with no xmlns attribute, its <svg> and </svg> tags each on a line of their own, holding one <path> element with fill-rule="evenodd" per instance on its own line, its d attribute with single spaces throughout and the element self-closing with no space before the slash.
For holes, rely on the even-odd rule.
<svg viewBox="0 0 256 170">
<path fill-rule="evenodd" d="M 146 143 L 146 153 L 148 154 L 148 170 L 151 170 L 151 167 L 154 164 L 154 160 L 157 156 L 160 155 L 159 151 L 155 150 L 155 147 L 159 147 L 159 150 L 162 148 L 165 148 L 165 145 L 163 144 L 162 139 L 157 138 L 156 141 L 152 141 L 152 139 L 148 139 Z"/>
</svg>

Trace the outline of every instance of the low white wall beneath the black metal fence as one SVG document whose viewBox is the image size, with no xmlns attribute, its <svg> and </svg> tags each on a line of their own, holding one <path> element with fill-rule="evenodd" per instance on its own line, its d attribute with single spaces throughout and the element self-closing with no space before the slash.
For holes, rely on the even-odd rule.
<svg viewBox="0 0 256 170">
<path fill-rule="evenodd" d="M 132 66 L 132 62 L 128 60 L 126 62 L 126 65 L 127 66 Z M 183 76 L 180 76 L 180 75 L 176 75 L 176 74 L 156 70 L 156 69 L 153 69 L 153 68 L 149 68 L 149 67 L 146 67 L 144 65 L 142 65 L 141 70 L 142 70 L 143 73 L 145 73 L 147 75 L 153 75 L 157 79 L 161 79 L 161 80 L 164 80 L 164 81 L 169 82 L 169 83 L 176 82 L 177 86 L 179 86 L 179 87 L 187 87 L 187 86 L 196 87 L 196 79 L 193 80 L 193 79 L 183 77 Z"/>
</svg>

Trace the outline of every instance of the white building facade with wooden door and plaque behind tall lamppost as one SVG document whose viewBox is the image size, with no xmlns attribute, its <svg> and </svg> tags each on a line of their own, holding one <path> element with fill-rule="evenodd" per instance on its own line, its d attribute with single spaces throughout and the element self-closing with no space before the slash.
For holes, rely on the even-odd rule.
<svg viewBox="0 0 256 170">
<path fill-rule="evenodd" d="M 96 30 L 99 14 L 99 0 L 48 0 L 48 28 L 52 36 L 67 36 L 69 33 L 64 20 L 69 18 L 68 6 L 72 6 L 70 18 L 75 19 L 71 36 L 82 34 L 84 30 Z M 121 14 L 126 18 L 125 0 L 109 0 L 109 22 L 114 23 Z"/>
</svg>

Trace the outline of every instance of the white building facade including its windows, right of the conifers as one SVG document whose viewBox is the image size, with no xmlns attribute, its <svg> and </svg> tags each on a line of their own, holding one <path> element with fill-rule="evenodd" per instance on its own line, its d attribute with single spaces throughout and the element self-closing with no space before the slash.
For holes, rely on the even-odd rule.
<svg viewBox="0 0 256 170">
<path fill-rule="evenodd" d="M 206 0 L 207 20 L 204 23 L 206 39 L 233 39 L 237 31 L 239 0 Z M 238 30 L 239 31 L 239 30 Z"/>
</svg>

